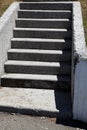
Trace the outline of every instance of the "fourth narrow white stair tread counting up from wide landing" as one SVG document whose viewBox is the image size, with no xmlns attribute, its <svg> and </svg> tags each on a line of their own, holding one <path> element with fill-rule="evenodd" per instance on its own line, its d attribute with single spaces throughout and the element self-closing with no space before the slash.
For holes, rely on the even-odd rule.
<svg viewBox="0 0 87 130">
<path fill-rule="evenodd" d="M 65 42 L 64 39 L 45 39 L 45 38 L 12 38 L 12 41 L 34 41 L 34 42 Z M 68 40 L 69 41 L 69 40 Z"/>
</svg>

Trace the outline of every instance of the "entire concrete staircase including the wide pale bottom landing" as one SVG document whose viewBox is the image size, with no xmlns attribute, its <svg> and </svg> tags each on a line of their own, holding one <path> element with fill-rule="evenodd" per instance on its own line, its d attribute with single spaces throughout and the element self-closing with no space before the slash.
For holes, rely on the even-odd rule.
<svg viewBox="0 0 87 130">
<path fill-rule="evenodd" d="M 72 5 L 20 2 L 15 25 L 0 111 L 71 118 Z"/>
</svg>

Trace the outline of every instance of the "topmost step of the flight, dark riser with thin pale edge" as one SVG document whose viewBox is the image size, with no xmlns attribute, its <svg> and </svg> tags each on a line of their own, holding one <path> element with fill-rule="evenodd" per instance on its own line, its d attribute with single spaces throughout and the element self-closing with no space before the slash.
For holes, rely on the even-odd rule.
<svg viewBox="0 0 87 130">
<path fill-rule="evenodd" d="M 20 9 L 26 10 L 71 10 L 72 5 L 64 2 L 20 2 Z"/>
</svg>

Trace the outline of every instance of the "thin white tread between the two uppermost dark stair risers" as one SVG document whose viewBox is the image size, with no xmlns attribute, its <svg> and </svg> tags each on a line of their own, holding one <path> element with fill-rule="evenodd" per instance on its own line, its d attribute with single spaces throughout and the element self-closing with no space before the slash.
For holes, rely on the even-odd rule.
<svg viewBox="0 0 87 130">
<path fill-rule="evenodd" d="M 67 12 L 67 13 L 71 13 L 70 10 L 25 10 L 25 9 L 19 9 L 18 11 L 27 11 L 27 12 Z"/>
</svg>

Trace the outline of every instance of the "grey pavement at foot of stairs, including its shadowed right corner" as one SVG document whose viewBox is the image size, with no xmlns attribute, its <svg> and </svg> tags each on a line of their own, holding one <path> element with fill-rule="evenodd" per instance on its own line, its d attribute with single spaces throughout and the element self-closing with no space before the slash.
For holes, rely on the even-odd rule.
<svg viewBox="0 0 87 130">
<path fill-rule="evenodd" d="M 0 113 L 0 130 L 86 130 L 86 124 L 55 118 Z"/>
</svg>

